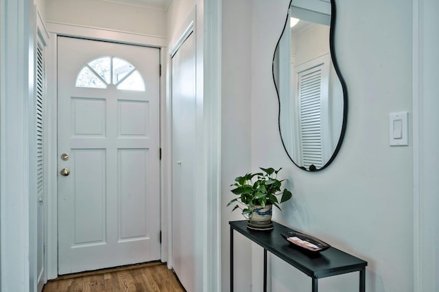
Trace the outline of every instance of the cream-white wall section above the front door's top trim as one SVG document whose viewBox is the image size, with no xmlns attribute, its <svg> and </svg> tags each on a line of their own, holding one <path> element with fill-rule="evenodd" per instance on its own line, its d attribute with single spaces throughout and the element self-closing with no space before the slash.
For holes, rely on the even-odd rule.
<svg viewBox="0 0 439 292">
<path fill-rule="evenodd" d="M 45 3 L 48 22 L 166 36 L 163 10 L 98 0 L 45 0 Z"/>
</svg>

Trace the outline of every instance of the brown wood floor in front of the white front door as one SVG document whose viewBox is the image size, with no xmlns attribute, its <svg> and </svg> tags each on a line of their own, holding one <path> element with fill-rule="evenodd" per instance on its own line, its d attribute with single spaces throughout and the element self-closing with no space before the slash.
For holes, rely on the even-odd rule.
<svg viewBox="0 0 439 292">
<path fill-rule="evenodd" d="M 45 284 L 43 292 L 184 292 L 173 271 L 163 263 L 60 276 Z"/>
</svg>

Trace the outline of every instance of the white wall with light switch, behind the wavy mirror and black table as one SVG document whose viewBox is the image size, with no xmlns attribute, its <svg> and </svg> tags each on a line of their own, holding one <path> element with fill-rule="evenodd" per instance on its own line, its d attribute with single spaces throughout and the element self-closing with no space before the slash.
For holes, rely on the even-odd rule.
<svg viewBox="0 0 439 292">
<path fill-rule="evenodd" d="M 282 213 L 275 212 L 274 219 L 367 260 L 367 291 L 413 291 L 412 138 L 408 147 L 388 145 L 389 113 L 407 110 L 412 117 L 412 1 L 337 1 L 335 48 L 348 85 L 348 124 L 337 158 L 318 173 L 302 171 L 288 160 L 277 130 L 271 62 L 288 2 L 252 1 L 251 67 L 250 71 L 240 70 L 242 83 L 233 87 L 247 93 L 248 81 L 243 77 L 251 74 L 251 143 L 241 146 L 248 149 L 223 147 L 223 158 L 233 156 L 238 160 L 230 164 L 228 173 L 234 177 L 243 169 L 283 167 L 294 200 L 283 205 Z M 224 10 L 224 21 L 241 7 L 233 5 Z M 244 15 L 245 27 L 248 14 Z M 223 49 L 235 46 L 230 60 L 247 58 L 249 50 L 245 50 L 244 40 L 237 42 L 235 35 L 224 31 L 223 42 L 228 44 Z M 231 63 L 223 62 L 224 71 L 226 65 Z M 227 87 L 230 84 L 223 82 L 223 90 L 231 90 Z M 225 98 L 231 97 L 223 95 Z M 227 122 L 229 129 L 224 129 L 223 135 L 239 136 L 239 119 L 248 119 L 248 103 L 235 101 L 234 106 L 241 117 L 223 111 L 224 120 L 234 121 Z M 248 137 L 249 125 L 245 125 L 241 134 Z M 411 125 L 410 119 L 410 135 Z M 241 158 L 241 153 L 248 152 L 251 169 L 246 169 L 248 160 Z M 224 175 L 223 181 L 226 193 L 230 178 Z M 224 217 L 232 217 L 224 209 Z M 227 237 L 223 235 L 222 240 L 227 241 Z M 274 257 L 271 260 L 272 291 L 290 291 L 292 286 L 298 291 L 311 288 L 309 278 Z M 248 267 L 248 261 L 240 264 Z M 226 281 L 223 275 L 223 287 L 227 287 Z M 358 276 L 353 273 L 325 278 L 319 286 L 322 291 L 356 291 Z"/>
</svg>

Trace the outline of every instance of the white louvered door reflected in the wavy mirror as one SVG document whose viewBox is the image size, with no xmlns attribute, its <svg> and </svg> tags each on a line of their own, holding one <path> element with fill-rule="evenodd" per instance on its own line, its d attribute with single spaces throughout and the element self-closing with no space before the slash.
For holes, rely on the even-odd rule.
<svg viewBox="0 0 439 292">
<path fill-rule="evenodd" d="M 329 55 L 324 55 L 296 68 L 299 163 L 307 169 L 310 165 L 322 167 L 325 147 L 329 147 L 329 64 Z"/>
</svg>

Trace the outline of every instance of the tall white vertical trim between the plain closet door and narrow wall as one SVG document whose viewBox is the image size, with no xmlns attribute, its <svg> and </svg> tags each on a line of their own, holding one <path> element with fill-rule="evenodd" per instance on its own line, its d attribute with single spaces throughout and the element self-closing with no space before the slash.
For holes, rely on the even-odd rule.
<svg viewBox="0 0 439 292">
<path fill-rule="evenodd" d="M 222 120 L 222 0 L 204 0 L 204 145 L 206 197 L 202 291 L 222 291 L 221 278 L 221 120 Z M 209 98 L 207 98 L 209 97 Z"/>
</svg>

